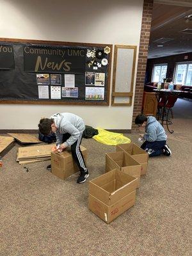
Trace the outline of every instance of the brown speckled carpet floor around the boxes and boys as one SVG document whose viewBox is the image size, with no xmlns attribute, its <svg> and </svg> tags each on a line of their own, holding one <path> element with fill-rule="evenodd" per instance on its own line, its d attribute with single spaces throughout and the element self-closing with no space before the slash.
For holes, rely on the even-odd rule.
<svg viewBox="0 0 192 256">
<path fill-rule="evenodd" d="M 18 147 L 0 168 L 1 256 L 189 255 L 189 184 L 192 120 L 174 119 L 168 134 L 172 156 L 148 161 L 136 204 L 110 224 L 88 210 L 88 182 L 77 184 L 47 172 L 49 161 L 16 163 Z M 138 134 L 127 134 L 138 143 Z M 115 147 L 83 139 L 90 178 L 101 175 L 105 153 Z"/>
</svg>

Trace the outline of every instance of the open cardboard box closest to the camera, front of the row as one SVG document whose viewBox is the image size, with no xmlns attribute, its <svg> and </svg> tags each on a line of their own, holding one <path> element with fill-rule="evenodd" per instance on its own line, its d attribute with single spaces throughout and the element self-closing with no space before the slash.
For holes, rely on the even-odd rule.
<svg viewBox="0 0 192 256">
<path fill-rule="evenodd" d="M 106 223 L 132 207 L 136 198 L 136 178 L 119 170 L 89 182 L 88 207 Z"/>
</svg>

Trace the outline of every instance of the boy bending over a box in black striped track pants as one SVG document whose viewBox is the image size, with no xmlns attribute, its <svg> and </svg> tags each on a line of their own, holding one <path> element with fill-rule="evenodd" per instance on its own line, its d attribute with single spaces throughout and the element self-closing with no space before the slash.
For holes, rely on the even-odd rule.
<svg viewBox="0 0 192 256">
<path fill-rule="evenodd" d="M 89 173 L 80 148 L 83 131 L 85 129 L 83 119 L 72 113 L 56 113 L 52 115 L 51 118 L 42 118 L 38 127 L 39 131 L 44 135 L 55 132 L 56 145 L 59 152 L 62 152 L 69 146 L 71 147 L 72 156 L 81 172 L 77 183 L 85 182 Z M 51 170 L 51 164 L 47 166 L 47 170 Z"/>
</svg>

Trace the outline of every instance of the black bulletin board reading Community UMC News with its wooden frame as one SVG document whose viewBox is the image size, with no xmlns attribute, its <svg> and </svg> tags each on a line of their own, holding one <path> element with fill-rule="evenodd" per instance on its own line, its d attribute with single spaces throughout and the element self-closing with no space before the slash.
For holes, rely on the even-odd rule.
<svg viewBox="0 0 192 256">
<path fill-rule="evenodd" d="M 109 105 L 112 47 L 0 38 L 0 103 Z"/>
</svg>

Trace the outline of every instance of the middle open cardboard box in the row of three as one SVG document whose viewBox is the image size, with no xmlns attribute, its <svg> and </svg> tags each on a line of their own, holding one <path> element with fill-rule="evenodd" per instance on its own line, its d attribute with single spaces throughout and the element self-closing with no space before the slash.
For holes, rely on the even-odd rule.
<svg viewBox="0 0 192 256">
<path fill-rule="evenodd" d="M 141 164 L 124 151 L 106 153 L 106 172 L 120 170 L 137 178 L 137 188 L 140 188 Z"/>
</svg>

